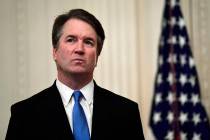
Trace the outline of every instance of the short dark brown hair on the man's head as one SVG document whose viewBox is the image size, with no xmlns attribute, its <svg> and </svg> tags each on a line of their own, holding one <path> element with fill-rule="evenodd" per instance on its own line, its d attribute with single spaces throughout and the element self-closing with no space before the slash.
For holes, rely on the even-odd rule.
<svg viewBox="0 0 210 140">
<path fill-rule="evenodd" d="M 63 26 L 69 19 L 79 19 L 92 26 L 92 28 L 95 30 L 97 34 L 97 54 L 100 55 L 105 39 L 104 29 L 101 23 L 94 15 L 83 9 L 72 9 L 65 14 L 59 15 L 55 19 L 52 29 L 53 47 L 54 48 L 58 47 L 59 39 L 62 35 Z"/>
</svg>

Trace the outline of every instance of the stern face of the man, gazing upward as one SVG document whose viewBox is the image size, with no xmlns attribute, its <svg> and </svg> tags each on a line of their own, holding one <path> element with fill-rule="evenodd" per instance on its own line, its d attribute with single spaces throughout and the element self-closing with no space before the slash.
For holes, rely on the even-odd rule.
<svg viewBox="0 0 210 140">
<path fill-rule="evenodd" d="M 68 20 L 58 47 L 53 49 L 58 73 L 92 75 L 97 63 L 97 35 L 86 22 Z"/>
</svg>

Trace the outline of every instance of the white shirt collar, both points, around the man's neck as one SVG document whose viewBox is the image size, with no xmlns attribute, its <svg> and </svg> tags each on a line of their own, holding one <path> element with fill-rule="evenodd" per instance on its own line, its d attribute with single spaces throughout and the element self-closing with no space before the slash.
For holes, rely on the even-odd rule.
<svg viewBox="0 0 210 140">
<path fill-rule="evenodd" d="M 63 84 L 58 79 L 56 80 L 56 86 L 58 88 L 58 91 L 60 92 L 64 106 L 68 105 L 74 90 Z M 82 92 L 84 99 L 87 101 L 87 103 L 91 105 L 93 103 L 93 92 L 94 92 L 93 80 L 91 80 L 87 85 L 81 88 L 80 91 Z"/>
</svg>

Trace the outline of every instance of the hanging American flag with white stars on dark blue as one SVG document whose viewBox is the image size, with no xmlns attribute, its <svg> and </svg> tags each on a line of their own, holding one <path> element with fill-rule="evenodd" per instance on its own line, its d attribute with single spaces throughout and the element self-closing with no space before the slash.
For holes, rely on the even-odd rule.
<svg viewBox="0 0 210 140">
<path fill-rule="evenodd" d="M 210 140 L 179 0 L 166 0 L 150 126 L 157 140 Z"/>
</svg>

